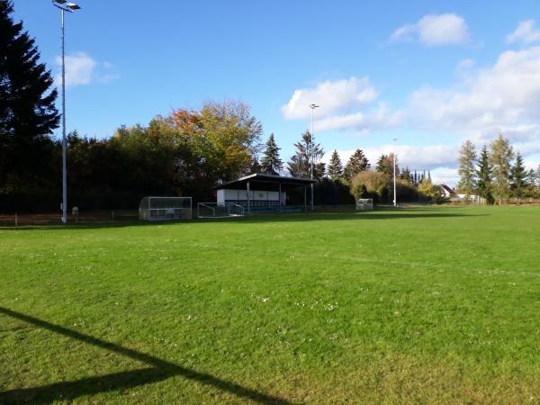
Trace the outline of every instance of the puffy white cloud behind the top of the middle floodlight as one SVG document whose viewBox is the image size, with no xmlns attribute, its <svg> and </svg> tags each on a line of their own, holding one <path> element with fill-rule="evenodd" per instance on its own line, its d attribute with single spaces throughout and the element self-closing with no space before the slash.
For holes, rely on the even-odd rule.
<svg viewBox="0 0 540 405">
<path fill-rule="evenodd" d="M 282 107 L 282 113 L 287 120 L 307 121 L 311 117 L 310 104 L 317 103 L 320 105 L 315 111 L 318 130 L 366 132 L 396 126 L 401 113 L 392 111 L 385 103 L 370 105 L 377 97 L 369 78 L 353 76 L 295 90 L 289 103 Z"/>
</svg>

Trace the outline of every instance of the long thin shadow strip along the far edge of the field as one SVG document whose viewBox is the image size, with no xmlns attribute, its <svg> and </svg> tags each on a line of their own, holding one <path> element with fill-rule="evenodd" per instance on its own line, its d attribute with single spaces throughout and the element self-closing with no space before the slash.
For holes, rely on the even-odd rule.
<svg viewBox="0 0 540 405">
<path fill-rule="evenodd" d="M 491 215 L 489 213 L 462 213 L 449 212 L 444 209 L 384 209 L 375 211 L 319 211 L 319 212 L 298 212 L 298 213 L 271 213 L 252 214 L 245 217 L 221 218 L 221 219 L 193 219 L 175 221 L 120 221 L 120 222 L 79 222 L 68 225 L 36 225 L 23 227 L 1 227 L 0 230 L 82 230 L 82 229 L 106 229 L 124 228 L 132 226 L 173 226 L 178 224 L 204 224 L 204 223 L 267 223 L 267 222 L 308 222 L 314 220 L 402 220 L 418 218 L 455 218 L 455 217 L 479 217 Z"/>
</svg>

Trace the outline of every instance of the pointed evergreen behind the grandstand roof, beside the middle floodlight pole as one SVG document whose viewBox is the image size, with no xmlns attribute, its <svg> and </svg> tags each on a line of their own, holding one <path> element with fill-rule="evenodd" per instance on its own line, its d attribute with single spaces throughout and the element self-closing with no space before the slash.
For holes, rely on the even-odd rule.
<svg viewBox="0 0 540 405">
<path fill-rule="evenodd" d="M 312 139 L 311 132 L 306 130 L 300 142 L 294 144 L 296 153 L 287 163 L 289 173 L 293 177 L 311 178 L 311 159 L 314 161 L 313 178 L 320 180 L 324 175 L 325 164 L 320 162 L 324 150 L 320 148 L 320 144 L 314 144 Z"/>
</svg>

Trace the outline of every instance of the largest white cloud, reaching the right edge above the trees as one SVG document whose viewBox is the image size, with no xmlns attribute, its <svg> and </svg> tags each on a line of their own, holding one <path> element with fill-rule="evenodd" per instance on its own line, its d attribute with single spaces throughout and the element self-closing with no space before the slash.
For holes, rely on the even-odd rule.
<svg viewBox="0 0 540 405">
<path fill-rule="evenodd" d="M 423 87 L 410 97 L 408 116 L 428 129 L 477 139 L 499 132 L 510 140 L 539 139 L 540 47 L 509 50 L 493 67 L 473 71 L 449 88 Z"/>
</svg>

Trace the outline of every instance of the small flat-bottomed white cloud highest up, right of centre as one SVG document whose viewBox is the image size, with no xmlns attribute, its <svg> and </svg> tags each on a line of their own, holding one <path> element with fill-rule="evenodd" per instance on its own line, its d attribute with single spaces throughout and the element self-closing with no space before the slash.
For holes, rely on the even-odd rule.
<svg viewBox="0 0 540 405">
<path fill-rule="evenodd" d="M 456 14 L 429 14 L 417 23 L 405 24 L 392 32 L 392 41 L 419 41 L 424 45 L 464 43 L 469 38 L 467 23 Z"/>
</svg>

